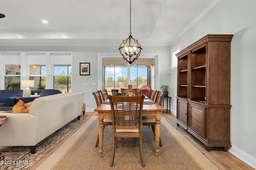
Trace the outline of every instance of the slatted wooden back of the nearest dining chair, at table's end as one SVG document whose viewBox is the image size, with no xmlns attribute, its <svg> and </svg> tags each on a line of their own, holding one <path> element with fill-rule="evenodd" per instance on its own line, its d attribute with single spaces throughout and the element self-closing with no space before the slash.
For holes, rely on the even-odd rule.
<svg viewBox="0 0 256 170">
<path fill-rule="evenodd" d="M 142 107 L 145 96 L 110 96 L 114 128 L 139 128 L 142 126 Z"/>
</svg>

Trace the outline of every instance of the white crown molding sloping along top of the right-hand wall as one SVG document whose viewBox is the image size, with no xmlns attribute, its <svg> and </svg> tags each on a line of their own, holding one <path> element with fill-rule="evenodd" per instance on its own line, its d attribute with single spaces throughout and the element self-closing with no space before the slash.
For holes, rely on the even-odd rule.
<svg viewBox="0 0 256 170">
<path fill-rule="evenodd" d="M 186 33 L 186 31 L 188 31 L 195 23 L 197 23 L 197 21 L 199 21 L 205 14 L 207 14 L 214 6 L 216 6 L 218 3 L 220 2 L 220 0 L 214 0 L 212 1 L 212 3 L 210 3 L 210 5 L 208 5 L 190 24 L 188 24 L 188 26 L 183 29 L 179 35 L 174 38 L 174 40 L 171 41 L 170 46 L 177 41 L 184 33 Z"/>
</svg>

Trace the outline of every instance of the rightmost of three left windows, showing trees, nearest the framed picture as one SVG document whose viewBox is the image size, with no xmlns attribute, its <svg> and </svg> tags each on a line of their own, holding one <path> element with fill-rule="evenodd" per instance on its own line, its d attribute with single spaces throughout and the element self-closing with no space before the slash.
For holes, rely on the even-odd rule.
<svg viewBox="0 0 256 170">
<path fill-rule="evenodd" d="M 71 65 L 54 65 L 53 76 L 54 89 L 65 92 L 71 92 Z"/>
</svg>

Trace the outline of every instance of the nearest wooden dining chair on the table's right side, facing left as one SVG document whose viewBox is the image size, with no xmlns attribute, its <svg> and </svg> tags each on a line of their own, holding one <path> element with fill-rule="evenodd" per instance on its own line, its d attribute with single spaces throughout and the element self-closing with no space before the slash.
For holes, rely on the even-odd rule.
<svg viewBox="0 0 256 170">
<path fill-rule="evenodd" d="M 156 104 L 159 104 L 161 106 L 162 101 L 164 99 L 164 95 L 165 95 L 165 92 L 160 92 L 160 91 L 157 92 L 156 100 L 155 100 Z M 156 119 L 148 118 L 148 117 L 143 116 L 142 124 L 143 124 L 143 126 L 151 126 L 151 129 L 152 129 L 152 131 L 153 131 L 153 133 L 155 135 Z M 159 140 L 159 146 L 162 147 L 161 137 L 160 137 L 160 140 Z"/>
</svg>

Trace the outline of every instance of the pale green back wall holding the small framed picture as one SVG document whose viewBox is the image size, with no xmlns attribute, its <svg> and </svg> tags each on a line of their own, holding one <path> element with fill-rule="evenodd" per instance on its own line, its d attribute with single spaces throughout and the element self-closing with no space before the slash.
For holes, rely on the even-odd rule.
<svg viewBox="0 0 256 170">
<path fill-rule="evenodd" d="M 142 47 L 142 53 L 160 53 L 160 84 L 169 84 L 169 56 L 170 47 Z M 86 108 L 96 108 L 96 102 L 92 92 L 98 88 L 98 53 L 119 53 L 116 47 L 0 47 L 0 51 L 73 51 L 73 91 L 85 91 L 84 102 Z M 120 57 L 121 54 L 120 54 Z M 90 76 L 79 75 L 79 63 L 90 63 Z M 87 82 L 87 86 L 82 86 Z M 96 82 L 96 86 L 92 86 Z"/>
</svg>

